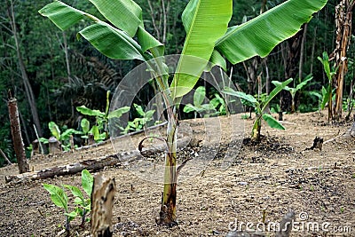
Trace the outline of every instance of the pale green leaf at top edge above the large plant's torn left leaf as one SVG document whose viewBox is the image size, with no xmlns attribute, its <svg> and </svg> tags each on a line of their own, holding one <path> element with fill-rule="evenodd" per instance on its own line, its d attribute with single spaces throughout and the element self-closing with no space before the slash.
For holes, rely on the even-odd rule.
<svg viewBox="0 0 355 237">
<path fill-rule="evenodd" d="M 129 36 L 136 35 L 141 25 L 142 9 L 132 0 L 90 0 L 99 12 L 116 28 L 122 29 Z"/>
</svg>

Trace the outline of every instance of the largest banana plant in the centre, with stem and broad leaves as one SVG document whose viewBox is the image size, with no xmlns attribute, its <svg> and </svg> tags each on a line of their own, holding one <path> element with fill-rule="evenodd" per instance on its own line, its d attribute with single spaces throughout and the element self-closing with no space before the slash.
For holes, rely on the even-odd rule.
<svg viewBox="0 0 355 237">
<path fill-rule="evenodd" d="M 139 5 L 133 0 L 90 2 L 105 21 L 60 1 L 47 4 L 39 12 L 62 30 L 88 20 L 90 25 L 80 30 L 78 36 L 83 36 L 107 57 L 138 59 L 152 64 L 152 74 L 162 91 L 168 115 L 168 148 L 158 223 L 174 225 L 177 218 L 177 110 L 182 97 L 193 89 L 203 70 L 209 67 L 209 61 L 225 68 L 225 59 L 236 64 L 256 55 L 266 56 L 278 43 L 294 36 L 327 0 L 288 0 L 231 28 L 228 24 L 233 14 L 232 0 L 190 0 L 182 14 L 185 43 L 170 84 L 163 60 L 158 59 L 163 56 L 164 45 L 146 31 Z"/>
</svg>

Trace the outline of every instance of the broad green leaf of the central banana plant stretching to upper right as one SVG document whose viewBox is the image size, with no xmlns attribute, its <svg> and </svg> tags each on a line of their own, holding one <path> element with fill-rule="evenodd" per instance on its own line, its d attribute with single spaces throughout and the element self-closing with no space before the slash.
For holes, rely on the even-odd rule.
<svg viewBox="0 0 355 237">
<path fill-rule="evenodd" d="M 295 36 L 327 0 L 288 0 L 253 20 L 228 28 L 217 44 L 217 51 L 233 64 L 256 55 L 265 57 L 280 42 Z"/>
</svg>

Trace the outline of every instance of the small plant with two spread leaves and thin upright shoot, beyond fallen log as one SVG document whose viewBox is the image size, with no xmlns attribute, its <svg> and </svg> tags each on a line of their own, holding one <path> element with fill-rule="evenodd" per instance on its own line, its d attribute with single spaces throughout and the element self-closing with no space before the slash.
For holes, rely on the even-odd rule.
<svg viewBox="0 0 355 237">
<path fill-rule="evenodd" d="M 110 118 L 120 118 L 123 114 L 130 111 L 130 107 L 120 107 L 110 113 L 108 109 L 110 107 L 110 91 L 106 92 L 106 110 L 105 113 L 97 109 L 91 109 L 85 106 L 76 107 L 76 110 L 83 115 L 94 116 L 96 118 L 96 125 L 91 128 L 91 133 L 94 135 L 95 141 L 108 138 L 108 120 Z M 102 132 L 100 132 L 102 131 Z M 89 132 L 89 131 L 88 131 Z"/>
</svg>

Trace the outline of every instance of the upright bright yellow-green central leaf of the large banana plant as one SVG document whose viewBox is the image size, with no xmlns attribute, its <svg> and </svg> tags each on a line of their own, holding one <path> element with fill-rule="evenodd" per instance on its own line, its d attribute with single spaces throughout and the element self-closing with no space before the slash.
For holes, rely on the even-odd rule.
<svg viewBox="0 0 355 237">
<path fill-rule="evenodd" d="M 177 73 L 171 83 L 172 98 L 193 89 L 207 66 L 217 39 L 225 35 L 233 10 L 232 0 L 191 0 L 182 15 L 186 38 Z"/>
</svg>

